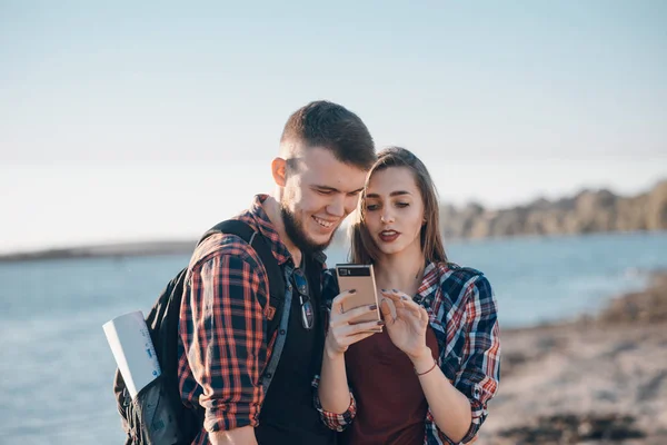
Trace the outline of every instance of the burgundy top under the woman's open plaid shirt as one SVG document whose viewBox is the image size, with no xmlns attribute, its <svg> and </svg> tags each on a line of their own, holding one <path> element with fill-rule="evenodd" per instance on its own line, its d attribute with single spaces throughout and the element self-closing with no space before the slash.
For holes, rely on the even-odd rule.
<svg viewBox="0 0 667 445">
<path fill-rule="evenodd" d="M 430 326 L 426 330 L 426 344 L 437 359 L 438 342 Z M 357 399 L 357 417 L 341 434 L 340 443 L 422 444 L 428 412 L 426 396 L 412 363 L 394 346 L 387 328 L 351 345 L 345 362 Z"/>
</svg>

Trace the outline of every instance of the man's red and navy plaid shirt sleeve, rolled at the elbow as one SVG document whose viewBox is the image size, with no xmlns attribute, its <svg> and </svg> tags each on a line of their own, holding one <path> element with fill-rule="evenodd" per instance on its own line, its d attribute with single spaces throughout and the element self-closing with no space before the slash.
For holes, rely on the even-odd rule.
<svg viewBox="0 0 667 445">
<path fill-rule="evenodd" d="M 201 387 L 197 402 L 206 409 L 208 432 L 258 425 L 260 369 L 267 359 L 261 304 L 267 285 L 258 269 L 239 256 L 220 255 L 190 277 L 181 337 L 192 378 Z"/>
</svg>

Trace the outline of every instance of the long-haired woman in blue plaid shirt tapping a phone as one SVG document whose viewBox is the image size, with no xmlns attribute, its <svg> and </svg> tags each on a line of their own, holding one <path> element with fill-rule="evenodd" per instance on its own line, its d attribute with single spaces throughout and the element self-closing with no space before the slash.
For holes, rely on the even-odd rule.
<svg viewBox="0 0 667 445">
<path fill-rule="evenodd" d="M 472 441 L 499 379 L 489 281 L 447 260 L 434 182 L 406 149 L 379 154 L 356 218 L 351 261 L 374 265 L 385 329 L 375 333 L 378 322 L 354 324 L 376 307 L 342 313 L 352 293 L 338 295 L 329 275 L 329 330 L 316 397 L 322 418 L 345 429 L 344 444 Z"/>
</svg>

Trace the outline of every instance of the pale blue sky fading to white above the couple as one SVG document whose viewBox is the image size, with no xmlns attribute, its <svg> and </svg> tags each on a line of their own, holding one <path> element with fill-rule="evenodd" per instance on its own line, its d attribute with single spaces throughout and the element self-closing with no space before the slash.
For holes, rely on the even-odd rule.
<svg viewBox="0 0 667 445">
<path fill-rule="evenodd" d="M 195 239 L 315 99 L 457 206 L 667 178 L 667 2 L 320 3 L 0 0 L 0 253 Z"/>
</svg>

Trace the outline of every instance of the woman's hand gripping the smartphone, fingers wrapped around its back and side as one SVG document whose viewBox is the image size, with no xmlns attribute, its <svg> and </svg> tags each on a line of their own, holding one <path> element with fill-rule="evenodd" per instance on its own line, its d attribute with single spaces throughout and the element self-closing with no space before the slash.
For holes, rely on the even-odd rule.
<svg viewBox="0 0 667 445">
<path fill-rule="evenodd" d="M 377 306 L 375 304 L 342 312 L 345 301 L 354 296 L 354 289 L 346 290 L 338 294 L 331 303 L 329 332 L 325 342 L 325 353 L 330 358 L 345 354 L 350 345 L 382 332 L 385 323 L 381 320 L 355 323 L 358 318 L 376 312 Z"/>
</svg>

